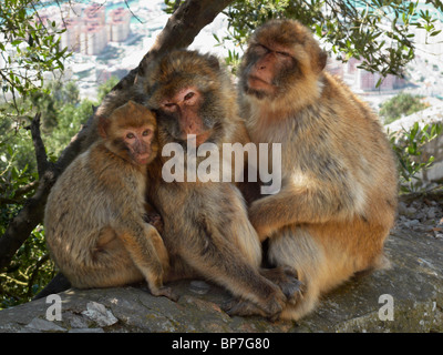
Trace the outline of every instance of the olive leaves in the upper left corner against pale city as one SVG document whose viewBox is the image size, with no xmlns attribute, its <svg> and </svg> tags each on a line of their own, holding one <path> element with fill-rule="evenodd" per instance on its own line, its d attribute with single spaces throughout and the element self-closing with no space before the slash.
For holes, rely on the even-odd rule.
<svg viewBox="0 0 443 355">
<path fill-rule="evenodd" d="M 60 48 L 64 31 L 42 21 L 37 0 L 0 2 L 0 83 L 3 98 L 18 114 L 25 114 L 18 100 L 43 90 L 44 73 L 64 70 L 68 49 Z M 8 97 L 7 94 L 10 93 Z"/>
</svg>

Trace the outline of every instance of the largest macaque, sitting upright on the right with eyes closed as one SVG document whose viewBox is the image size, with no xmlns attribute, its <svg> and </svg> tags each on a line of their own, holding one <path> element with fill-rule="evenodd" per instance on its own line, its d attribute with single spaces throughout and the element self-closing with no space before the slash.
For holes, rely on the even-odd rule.
<svg viewBox="0 0 443 355">
<path fill-rule="evenodd" d="M 382 266 L 394 222 L 396 170 L 378 118 L 323 69 L 327 54 L 297 21 L 253 34 L 240 68 L 240 115 L 255 143 L 281 143 L 281 190 L 259 196 L 249 219 L 267 262 L 303 283 L 282 318 L 299 320 L 319 296 Z"/>
</svg>

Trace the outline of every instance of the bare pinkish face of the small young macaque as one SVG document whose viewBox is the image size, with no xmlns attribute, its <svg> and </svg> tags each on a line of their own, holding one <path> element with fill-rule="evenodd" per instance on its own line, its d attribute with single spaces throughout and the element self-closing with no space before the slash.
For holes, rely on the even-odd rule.
<svg viewBox="0 0 443 355">
<path fill-rule="evenodd" d="M 122 139 L 131 160 L 137 165 L 145 165 L 154 159 L 152 143 L 154 126 L 127 128 L 122 131 Z"/>
</svg>

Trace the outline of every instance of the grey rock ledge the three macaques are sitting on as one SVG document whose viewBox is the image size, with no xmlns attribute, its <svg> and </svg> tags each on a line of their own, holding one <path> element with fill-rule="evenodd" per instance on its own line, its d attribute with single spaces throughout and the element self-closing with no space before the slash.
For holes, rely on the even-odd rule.
<svg viewBox="0 0 443 355">
<path fill-rule="evenodd" d="M 439 205 L 429 205 L 440 213 Z M 61 321 L 45 318 L 49 304 L 41 298 L 0 311 L 0 332 L 443 332 L 443 240 L 409 221 L 399 219 L 388 240 L 391 268 L 347 282 L 298 323 L 229 317 L 220 308 L 227 292 L 181 281 L 172 284 L 176 303 L 152 296 L 144 286 L 69 290 L 60 294 Z"/>
</svg>

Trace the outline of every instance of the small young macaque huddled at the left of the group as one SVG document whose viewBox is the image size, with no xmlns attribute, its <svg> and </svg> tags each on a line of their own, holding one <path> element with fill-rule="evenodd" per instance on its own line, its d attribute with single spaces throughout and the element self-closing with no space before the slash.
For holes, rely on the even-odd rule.
<svg viewBox="0 0 443 355">
<path fill-rule="evenodd" d="M 47 203 L 47 242 L 74 287 L 112 287 L 145 280 L 153 295 L 169 258 L 145 223 L 146 165 L 157 154 L 156 120 L 133 101 L 97 118 L 99 139 L 59 178 Z"/>
</svg>

